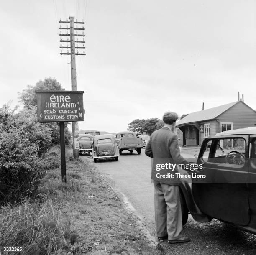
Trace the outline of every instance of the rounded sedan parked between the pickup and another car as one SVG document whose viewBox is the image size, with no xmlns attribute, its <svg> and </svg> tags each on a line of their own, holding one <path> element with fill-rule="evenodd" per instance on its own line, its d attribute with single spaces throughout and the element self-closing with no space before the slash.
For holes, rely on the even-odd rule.
<svg viewBox="0 0 256 255">
<path fill-rule="evenodd" d="M 119 156 L 119 148 L 114 135 L 95 135 L 92 146 L 92 158 L 95 163 L 100 158 L 115 158 L 118 161 Z"/>
</svg>

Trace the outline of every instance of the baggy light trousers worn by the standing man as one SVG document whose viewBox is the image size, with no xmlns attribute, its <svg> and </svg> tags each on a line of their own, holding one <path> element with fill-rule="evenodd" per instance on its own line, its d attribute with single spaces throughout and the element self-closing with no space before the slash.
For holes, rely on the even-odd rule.
<svg viewBox="0 0 256 255">
<path fill-rule="evenodd" d="M 179 186 L 154 181 L 155 219 L 158 237 L 168 235 L 168 240 L 182 236 L 182 210 Z"/>
</svg>

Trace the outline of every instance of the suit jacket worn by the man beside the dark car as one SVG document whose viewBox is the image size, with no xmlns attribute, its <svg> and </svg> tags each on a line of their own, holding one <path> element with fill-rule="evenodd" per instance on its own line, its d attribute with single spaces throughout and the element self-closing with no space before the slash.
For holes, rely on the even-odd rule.
<svg viewBox="0 0 256 255">
<path fill-rule="evenodd" d="M 145 154 L 148 157 L 153 158 L 153 163 L 151 161 L 151 179 L 170 185 L 179 185 L 179 178 L 176 176 L 176 173 L 178 173 L 177 168 L 175 168 L 173 171 L 173 167 L 172 169 L 165 168 L 156 171 L 159 164 L 189 164 L 180 155 L 177 135 L 175 135 L 168 127 L 162 127 L 161 129 L 154 131 L 151 134 L 150 140 L 146 146 Z M 160 175 L 168 173 L 173 174 L 173 177 L 170 175 L 170 177 L 159 177 Z"/>
</svg>

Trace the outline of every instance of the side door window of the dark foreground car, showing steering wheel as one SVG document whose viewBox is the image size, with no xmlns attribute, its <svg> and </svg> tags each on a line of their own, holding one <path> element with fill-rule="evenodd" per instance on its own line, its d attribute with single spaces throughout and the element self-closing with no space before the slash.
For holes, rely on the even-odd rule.
<svg viewBox="0 0 256 255">
<path fill-rule="evenodd" d="M 243 138 L 209 140 L 204 148 L 203 160 L 212 163 L 243 166 L 246 141 Z"/>
</svg>

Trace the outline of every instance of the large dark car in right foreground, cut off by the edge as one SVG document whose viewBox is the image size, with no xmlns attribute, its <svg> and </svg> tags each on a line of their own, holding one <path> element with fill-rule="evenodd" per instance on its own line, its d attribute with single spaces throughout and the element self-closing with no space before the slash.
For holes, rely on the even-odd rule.
<svg viewBox="0 0 256 255">
<path fill-rule="evenodd" d="M 256 234 L 256 127 L 206 138 L 196 161 L 205 178 L 181 179 L 183 224 L 189 211 L 197 221 L 215 218 Z"/>
</svg>

